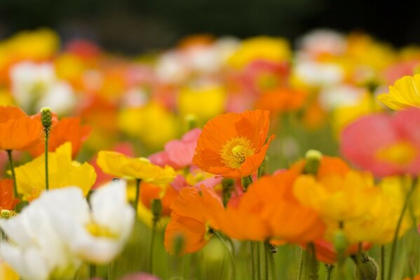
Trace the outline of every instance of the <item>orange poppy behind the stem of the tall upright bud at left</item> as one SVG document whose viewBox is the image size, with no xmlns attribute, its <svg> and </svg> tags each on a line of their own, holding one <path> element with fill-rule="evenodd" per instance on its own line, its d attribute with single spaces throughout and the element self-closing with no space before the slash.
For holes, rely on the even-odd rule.
<svg viewBox="0 0 420 280">
<path fill-rule="evenodd" d="M 38 116 L 36 117 L 38 118 Z M 39 115 L 41 118 L 41 115 Z M 51 127 L 50 137 L 48 139 L 48 151 L 53 152 L 56 148 L 65 144 L 72 143 L 72 157 L 74 158 L 79 153 L 80 148 L 90 135 L 90 126 L 81 125 L 81 118 L 62 118 L 57 120 L 53 118 L 53 126 Z M 29 149 L 32 157 L 36 158 L 44 153 L 44 141 L 40 139 L 36 145 Z"/>
</svg>

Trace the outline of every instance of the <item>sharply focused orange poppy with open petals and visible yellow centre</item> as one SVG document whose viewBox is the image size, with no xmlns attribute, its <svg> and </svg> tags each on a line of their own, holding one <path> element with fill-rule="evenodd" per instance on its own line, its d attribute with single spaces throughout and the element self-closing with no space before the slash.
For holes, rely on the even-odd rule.
<svg viewBox="0 0 420 280">
<path fill-rule="evenodd" d="M 242 178 L 262 164 L 272 135 L 269 111 L 245 111 L 217 116 L 203 127 L 193 163 L 205 172 L 226 178 Z"/>
</svg>

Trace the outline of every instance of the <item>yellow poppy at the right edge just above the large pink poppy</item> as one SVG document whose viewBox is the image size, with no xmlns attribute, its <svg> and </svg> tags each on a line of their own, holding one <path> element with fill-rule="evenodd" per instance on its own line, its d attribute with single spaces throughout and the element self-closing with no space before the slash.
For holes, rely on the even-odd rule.
<svg viewBox="0 0 420 280">
<path fill-rule="evenodd" d="M 380 94 L 378 99 L 394 110 L 420 108 L 420 74 L 400 78 L 389 87 L 388 93 Z"/>
</svg>

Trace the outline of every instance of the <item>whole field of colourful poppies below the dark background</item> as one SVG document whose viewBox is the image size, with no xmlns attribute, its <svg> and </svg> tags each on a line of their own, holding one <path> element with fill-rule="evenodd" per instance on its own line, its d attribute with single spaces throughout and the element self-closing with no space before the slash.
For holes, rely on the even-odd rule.
<svg viewBox="0 0 420 280">
<path fill-rule="evenodd" d="M 0 42 L 0 279 L 420 276 L 420 48 L 58 45 Z"/>
</svg>

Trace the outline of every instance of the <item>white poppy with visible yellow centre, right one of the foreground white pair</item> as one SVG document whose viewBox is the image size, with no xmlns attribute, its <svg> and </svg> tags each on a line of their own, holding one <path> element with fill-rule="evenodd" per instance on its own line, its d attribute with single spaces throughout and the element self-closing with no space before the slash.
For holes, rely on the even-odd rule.
<svg viewBox="0 0 420 280">
<path fill-rule="evenodd" d="M 77 195 L 69 196 L 64 206 L 50 208 L 53 226 L 72 254 L 87 262 L 106 264 L 121 253 L 134 225 L 126 182 L 112 181 L 97 188 L 90 197 L 90 207 L 79 188 L 72 191 Z M 62 211 L 54 211 L 55 207 Z"/>
</svg>

